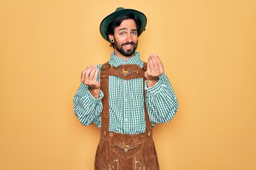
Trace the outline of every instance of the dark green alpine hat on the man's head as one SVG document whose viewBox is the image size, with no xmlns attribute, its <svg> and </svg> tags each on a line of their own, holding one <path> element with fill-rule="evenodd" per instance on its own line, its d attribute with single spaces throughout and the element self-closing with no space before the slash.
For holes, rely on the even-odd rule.
<svg viewBox="0 0 256 170">
<path fill-rule="evenodd" d="M 112 21 L 114 21 L 114 19 L 117 18 L 118 16 L 122 16 L 124 14 L 130 14 L 130 13 L 134 14 L 134 16 L 137 16 L 137 18 L 139 18 L 139 20 L 142 23 L 141 28 L 139 28 L 138 30 L 138 37 L 139 37 L 139 35 L 141 35 L 146 28 L 146 16 L 144 15 L 144 13 L 136 11 L 134 9 L 129 9 L 129 8 L 126 9 L 126 8 L 119 7 L 116 9 L 116 11 L 111 13 L 109 16 L 106 16 L 100 23 L 100 34 L 102 35 L 102 38 L 110 42 L 110 40 L 107 39 L 107 26 Z"/>
</svg>

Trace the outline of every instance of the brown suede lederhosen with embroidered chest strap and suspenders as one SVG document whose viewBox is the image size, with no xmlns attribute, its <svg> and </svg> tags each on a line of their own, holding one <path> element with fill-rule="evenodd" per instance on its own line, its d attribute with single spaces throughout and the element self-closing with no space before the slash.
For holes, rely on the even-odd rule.
<svg viewBox="0 0 256 170">
<path fill-rule="evenodd" d="M 108 63 L 102 64 L 100 72 L 100 84 L 104 97 L 102 98 L 102 128 L 100 143 L 95 155 L 95 170 L 158 170 L 159 163 L 152 140 L 151 123 L 146 112 L 145 101 L 146 132 L 138 135 L 126 135 L 109 131 L 108 77 L 111 75 L 122 79 L 144 78 L 146 63 L 143 68 L 137 64 L 120 65 L 115 68 Z"/>
</svg>

